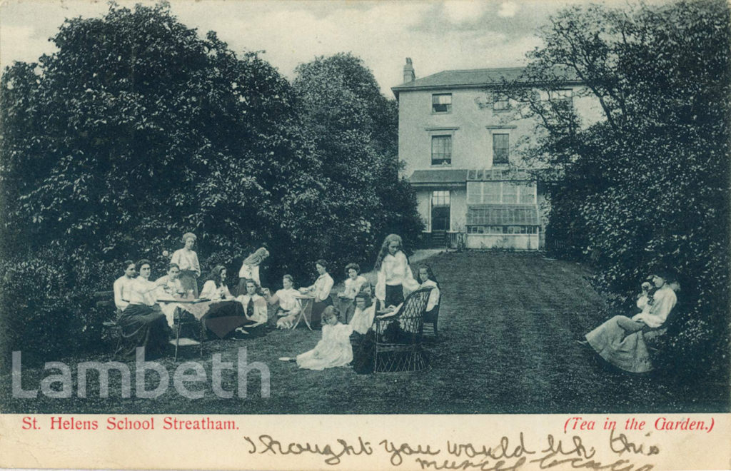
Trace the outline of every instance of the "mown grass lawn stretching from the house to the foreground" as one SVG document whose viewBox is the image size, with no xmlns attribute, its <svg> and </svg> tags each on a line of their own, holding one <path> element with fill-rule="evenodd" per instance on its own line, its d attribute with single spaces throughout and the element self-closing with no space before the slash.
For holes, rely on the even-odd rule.
<svg viewBox="0 0 731 471">
<path fill-rule="evenodd" d="M 357 375 L 352 369 L 300 370 L 280 356 L 314 347 L 319 331 L 274 331 L 245 341 L 206 342 L 203 364 L 209 380 L 189 383 L 203 391 L 186 399 L 172 387 L 156 399 L 121 397 L 112 374 L 110 397 L 99 398 L 96 375 L 88 397 L 15 399 L 10 376 L 2 379 L 0 405 L 8 413 L 606 413 L 727 411 L 727 384 L 689 389 L 673 378 L 629 375 L 606 367 L 575 340 L 605 320 L 603 299 L 586 281 L 583 267 L 544 259 L 537 253 L 440 253 L 428 259 L 442 287 L 439 342 L 427 346 L 431 369 L 416 374 Z M 211 358 L 236 364 L 238 348 L 270 369 L 270 397 L 260 397 L 252 372 L 248 397 L 221 399 L 211 387 Z M 183 351 L 197 360 L 197 348 Z M 61 359 L 111 360 L 93 356 Z M 184 361 L 183 360 L 183 361 Z M 159 361 L 170 372 L 172 358 Z M 181 364 L 182 361 L 178 361 Z M 132 391 L 134 395 L 134 363 Z M 23 386 L 37 388 L 58 371 L 23 369 Z M 154 374 L 148 373 L 154 387 Z M 237 377 L 224 370 L 225 390 Z M 696 391 L 692 396 L 686 391 Z M 697 392 L 702 391 L 702 392 Z"/>
</svg>

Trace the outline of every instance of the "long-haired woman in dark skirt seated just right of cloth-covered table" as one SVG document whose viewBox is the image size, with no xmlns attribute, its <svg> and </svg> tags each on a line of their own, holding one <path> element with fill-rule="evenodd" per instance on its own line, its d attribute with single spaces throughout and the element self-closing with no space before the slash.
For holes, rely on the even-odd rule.
<svg viewBox="0 0 731 471">
<path fill-rule="evenodd" d="M 224 338 L 237 327 L 246 323 L 244 310 L 226 286 L 226 268 L 216 265 L 203 283 L 201 298 L 211 299 L 208 312 L 202 317 L 203 325 L 219 338 Z"/>
</svg>

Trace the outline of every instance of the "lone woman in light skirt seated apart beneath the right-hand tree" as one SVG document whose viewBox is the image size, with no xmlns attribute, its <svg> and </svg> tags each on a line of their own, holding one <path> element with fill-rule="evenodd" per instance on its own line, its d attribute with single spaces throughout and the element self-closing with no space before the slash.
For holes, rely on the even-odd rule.
<svg viewBox="0 0 731 471">
<path fill-rule="evenodd" d="M 586 334 L 586 342 L 603 359 L 628 372 L 643 373 L 652 369 L 644 333 L 662 327 L 678 301 L 670 286 L 670 274 L 656 270 L 652 276 L 657 290 L 640 296 L 637 307 L 642 312 L 632 318 L 616 315 Z"/>
</svg>

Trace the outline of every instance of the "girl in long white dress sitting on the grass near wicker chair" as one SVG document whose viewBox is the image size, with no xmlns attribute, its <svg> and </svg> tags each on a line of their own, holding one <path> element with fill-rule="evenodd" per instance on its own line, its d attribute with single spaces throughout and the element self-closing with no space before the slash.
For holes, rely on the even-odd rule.
<svg viewBox="0 0 731 471">
<path fill-rule="evenodd" d="M 297 366 L 305 369 L 345 367 L 353 359 L 350 326 L 340 323 L 333 306 L 322 311 L 322 340 L 311 351 L 297 356 Z"/>
</svg>

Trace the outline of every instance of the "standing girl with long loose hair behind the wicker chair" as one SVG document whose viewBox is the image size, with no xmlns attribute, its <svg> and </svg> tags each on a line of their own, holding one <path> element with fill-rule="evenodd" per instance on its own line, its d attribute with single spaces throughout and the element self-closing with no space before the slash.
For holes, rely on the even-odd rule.
<svg viewBox="0 0 731 471">
<path fill-rule="evenodd" d="M 378 272 L 376 298 L 385 306 L 401 305 L 404 291 L 411 292 L 419 287 L 404 253 L 404 242 L 397 234 L 386 236 L 374 268 Z"/>
</svg>

